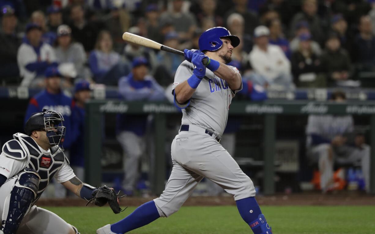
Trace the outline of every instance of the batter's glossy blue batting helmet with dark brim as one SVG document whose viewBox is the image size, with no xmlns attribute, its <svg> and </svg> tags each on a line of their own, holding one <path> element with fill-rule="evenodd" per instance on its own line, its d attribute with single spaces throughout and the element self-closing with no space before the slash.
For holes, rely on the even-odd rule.
<svg viewBox="0 0 375 234">
<path fill-rule="evenodd" d="M 223 27 L 214 27 L 204 31 L 198 40 L 200 51 L 216 51 L 223 45 L 221 38 L 231 40 L 233 47 L 240 44 L 240 39 L 237 36 L 231 35 L 228 29 Z"/>
</svg>

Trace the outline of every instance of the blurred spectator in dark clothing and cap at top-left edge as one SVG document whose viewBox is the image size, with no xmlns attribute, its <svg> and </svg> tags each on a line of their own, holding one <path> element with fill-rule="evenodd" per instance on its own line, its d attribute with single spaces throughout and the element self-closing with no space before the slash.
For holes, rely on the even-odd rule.
<svg viewBox="0 0 375 234">
<path fill-rule="evenodd" d="M 16 35 L 17 17 L 10 6 L 2 8 L 0 33 L 0 83 L 17 84 L 20 71 L 17 66 L 17 51 L 21 40 Z"/>
</svg>

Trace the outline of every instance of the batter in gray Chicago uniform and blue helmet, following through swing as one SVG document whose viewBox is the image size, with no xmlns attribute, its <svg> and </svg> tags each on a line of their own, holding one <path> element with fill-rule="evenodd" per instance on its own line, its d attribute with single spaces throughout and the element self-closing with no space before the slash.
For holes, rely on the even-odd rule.
<svg viewBox="0 0 375 234">
<path fill-rule="evenodd" d="M 234 195 L 237 208 L 255 234 L 272 234 L 257 201 L 251 179 L 220 144 L 232 98 L 242 89 L 238 70 L 225 65 L 240 39 L 226 28 L 208 29 L 199 50 L 184 51 L 174 78 L 174 103 L 182 109 L 182 125 L 171 146 L 173 168 L 159 198 L 129 216 L 99 228 L 97 234 L 127 233 L 180 209 L 206 177 Z M 202 61 L 207 58 L 207 68 Z"/>
</svg>

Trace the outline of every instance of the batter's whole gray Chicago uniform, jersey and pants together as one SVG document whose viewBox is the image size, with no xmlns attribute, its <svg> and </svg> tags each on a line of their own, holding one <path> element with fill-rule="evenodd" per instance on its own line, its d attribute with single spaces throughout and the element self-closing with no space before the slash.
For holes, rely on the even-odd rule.
<svg viewBox="0 0 375 234">
<path fill-rule="evenodd" d="M 231 68 L 238 72 L 236 68 Z M 173 88 L 187 80 L 193 69 L 192 63 L 181 63 Z M 182 110 L 182 124 L 189 124 L 189 130 L 180 131 L 171 145 L 172 172 L 162 195 L 154 199 L 161 217 L 176 212 L 204 177 L 233 194 L 236 201 L 255 196 L 251 179 L 228 151 L 205 133 L 206 129 L 211 129 L 222 135 L 229 105 L 237 91 L 232 91 L 224 80 L 207 69 L 189 102 L 179 105 L 181 108 L 187 106 Z"/>
</svg>

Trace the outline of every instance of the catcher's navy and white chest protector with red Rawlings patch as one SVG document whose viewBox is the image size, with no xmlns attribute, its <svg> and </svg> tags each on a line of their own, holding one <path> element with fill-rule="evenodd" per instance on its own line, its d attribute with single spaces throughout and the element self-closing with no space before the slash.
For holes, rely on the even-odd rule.
<svg viewBox="0 0 375 234">
<path fill-rule="evenodd" d="M 40 176 L 39 189 L 34 200 L 35 202 L 42 195 L 42 192 L 46 189 L 55 173 L 63 166 L 65 155 L 63 151 L 58 150 L 57 146 L 51 148 L 50 154 L 43 154 L 30 136 L 19 136 L 17 140 L 23 146 L 26 146 L 30 152 L 27 167 L 34 169 Z"/>
</svg>

